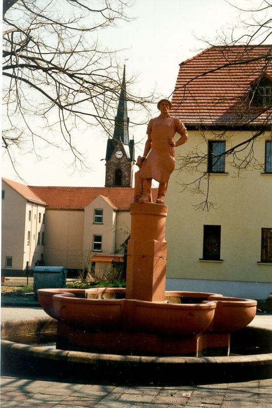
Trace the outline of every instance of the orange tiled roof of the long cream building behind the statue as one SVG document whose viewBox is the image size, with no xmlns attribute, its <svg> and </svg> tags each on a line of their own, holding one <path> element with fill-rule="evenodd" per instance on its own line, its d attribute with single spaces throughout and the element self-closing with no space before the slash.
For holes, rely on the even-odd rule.
<svg viewBox="0 0 272 408">
<path fill-rule="evenodd" d="M 129 210 L 134 189 L 129 187 L 38 187 L 29 188 L 47 203 L 47 209 L 83 210 L 97 196 L 106 197 L 114 208 Z M 152 189 L 153 201 L 157 189 Z"/>
</svg>

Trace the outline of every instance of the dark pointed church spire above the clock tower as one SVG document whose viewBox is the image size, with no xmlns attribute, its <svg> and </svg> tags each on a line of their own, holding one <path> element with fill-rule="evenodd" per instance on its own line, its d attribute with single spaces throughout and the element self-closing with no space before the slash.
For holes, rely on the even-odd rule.
<svg viewBox="0 0 272 408">
<path fill-rule="evenodd" d="M 127 117 L 127 107 L 126 107 L 126 89 L 125 89 L 125 65 L 123 71 L 123 80 L 121 86 L 121 92 L 119 96 L 117 114 L 114 121 L 114 132 L 113 139 L 120 140 L 123 144 L 128 145 L 128 123 L 129 118 Z"/>
</svg>

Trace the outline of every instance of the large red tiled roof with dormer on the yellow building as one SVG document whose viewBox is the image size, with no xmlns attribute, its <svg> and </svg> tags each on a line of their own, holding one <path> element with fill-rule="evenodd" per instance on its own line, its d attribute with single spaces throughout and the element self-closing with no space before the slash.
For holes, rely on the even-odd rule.
<svg viewBox="0 0 272 408">
<path fill-rule="evenodd" d="M 263 75 L 272 80 L 272 45 L 208 48 L 180 64 L 171 115 L 187 126 L 263 123 L 267 113 L 249 108 Z"/>
</svg>

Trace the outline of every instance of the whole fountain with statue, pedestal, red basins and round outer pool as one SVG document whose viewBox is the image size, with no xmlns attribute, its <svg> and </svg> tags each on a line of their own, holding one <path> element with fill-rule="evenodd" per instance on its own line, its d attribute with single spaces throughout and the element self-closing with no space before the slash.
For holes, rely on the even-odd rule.
<svg viewBox="0 0 272 408">
<path fill-rule="evenodd" d="M 160 102 L 163 116 L 167 103 L 161 106 Z M 169 116 L 165 120 L 169 121 Z M 178 125 L 181 138 L 175 142 L 176 128 L 163 126 L 163 137 L 157 126 L 152 149 L 149 136 L 145 154 L 137 161 L 140 170 L 135 178 L 135 202 L 130 207 L 126 289 L 39 289 L 40 305 L 52 319 L 3 324 L 2 361 L 8 366 L 13 361 L 18 367 L 21 361 L 25 368 L 27 361 L 31 370 L 35 367 L 43 372 L 49 370 L 50 374 L 70 372 L 77 378 L 92 374 L 96 379 L 100 372 L 103 380 L 107 372 L 113 382 L 122 378 L 138 384 L 151 380 L 167 384 L 226 382 L 270 375 L 271 331 L 265 332 L 267 344 L 258 330 L 244 331 L 255 316 L 256 301 L 165 290 L 168 209 L 164 195 L 174 168 L 173 147 L 186 141 L 186 129 Z M 174 132 L 172 136 L 167 134 L 169 129 Z M 152 154 L 146 160 L 150 149 Z M 166 178 L 159 174 L 156 179 L 160 182 L 156 203 L 150 199 L 152 158 L 168 171 Z M 236 342 L 232 336 L 234 351 L 242 341 L 244 349 L 253 347 L 261 354 L 230 355 L 233 332 L 239 333 Z M 29 345 L 33 339 L 41 341 L 43 337 L 53 337 L 56 349 Z"/>
</svg>

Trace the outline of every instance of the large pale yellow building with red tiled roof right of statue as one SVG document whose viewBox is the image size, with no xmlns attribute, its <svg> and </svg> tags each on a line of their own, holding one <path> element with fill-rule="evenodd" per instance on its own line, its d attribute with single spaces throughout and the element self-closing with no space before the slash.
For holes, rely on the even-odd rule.
<svg viewBox="0 0 272 408">
<path fill-rule="evenodd" d="M 171 114 L 189 139 L 167 192 L 168 289 L 272 291 L 271 56 L 212 47 L 180 64 Z"/>
</svg>

